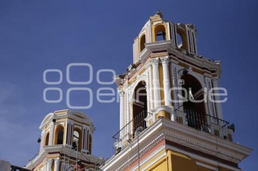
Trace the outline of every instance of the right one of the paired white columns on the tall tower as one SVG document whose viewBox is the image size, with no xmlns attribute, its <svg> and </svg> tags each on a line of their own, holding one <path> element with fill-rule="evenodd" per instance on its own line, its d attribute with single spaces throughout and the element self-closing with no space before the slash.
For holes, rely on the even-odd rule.
<svg viewBox="0 0 258 171">
<path fill-rule="evenodd" d="M 169 79 L 169 71 L 168 71 L 168 62 L 169 57 L 162 57 L 162 68 L 163 68 L 163 84 L 164 84 L 164 96 L 165 96 L 165 105 L 171 106 L 171 92 L 170 92 L 170 79 Z"/>
</svg>

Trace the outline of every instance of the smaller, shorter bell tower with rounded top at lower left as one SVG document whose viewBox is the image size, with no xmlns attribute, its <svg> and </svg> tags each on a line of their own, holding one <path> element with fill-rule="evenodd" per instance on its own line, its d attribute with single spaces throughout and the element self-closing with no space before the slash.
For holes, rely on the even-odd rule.
<svg viewBox="0 0 258 171">
<path fill-rule="evenodd" d="M 38 153 L 25 166 L 34 171 L 99 170 L 103 158 L 92 155 L 95 127 L 79 111 L 49 113 L 41 122 Z M 77 168 L 77 169 L 76 169 Z"/>
</svg>

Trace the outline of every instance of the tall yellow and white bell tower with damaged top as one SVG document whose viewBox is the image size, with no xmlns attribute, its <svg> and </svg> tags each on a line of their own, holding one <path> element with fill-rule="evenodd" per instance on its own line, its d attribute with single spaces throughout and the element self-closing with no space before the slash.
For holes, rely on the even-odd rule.
<svg viewBox="0 0 258 171">
<path fill-rule="evenodd" d="M 241 170 L 252 150 L 233 142 L 220 97 L 209 96 L 219 93 L 221 64 L 198 55 L 196 35 L 157 11 L 134 39 L 134 63 L 115 78 L 120 130 L 103 171 Z"/>
</svg>

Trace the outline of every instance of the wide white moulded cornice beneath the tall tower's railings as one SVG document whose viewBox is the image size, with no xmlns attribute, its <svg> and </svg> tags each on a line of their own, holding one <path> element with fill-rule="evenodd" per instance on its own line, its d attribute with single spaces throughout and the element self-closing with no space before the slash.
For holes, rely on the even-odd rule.
<svg viewBox="0 0 258 171">
<path fill-rule="evenodd" d="M 159 118 L 147 127 L 138 137 L 135 137 L 120 153 L 112 156 L 102 167 L 104 170 L 119 168 L 127 159 L 137 160 L 137 147 L 139 140 L 140 156 L 146 154 L 158 142 L 165 141 L 165 147 L 188 151 L 189 154 L 203 156 L 219 161 L 221 164 L 237 164 L 246 158 L 252 149 L 230 142 L 220 137 L 199 131 L 195 128 Z M 129 156 L 129 157 L 128 157 Z M 215 158 L 214 158 L 214 157 Z M 127 161 L 127 163 L 130 161 Z"/>
</svg>

